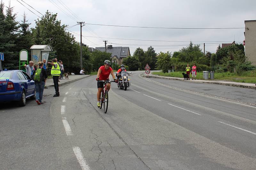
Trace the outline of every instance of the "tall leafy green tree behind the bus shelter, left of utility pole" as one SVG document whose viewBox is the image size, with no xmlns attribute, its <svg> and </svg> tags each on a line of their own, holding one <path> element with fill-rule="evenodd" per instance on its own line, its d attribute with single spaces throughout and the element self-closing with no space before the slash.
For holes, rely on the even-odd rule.
<svg viewBox="0 0 256 170">
<path fill-rule="evenodd" d="M 75 37 L 65 31 L 67 25 L 61 25 L 57 14 L 48 10 L 41 20 L 37 19 L 36 27 L 32 29 L 33 39 L 37 45 L 50 45 L 53 52 L 49 59 L 62 60 L 66 68 L 75 72 L 80 70 L 80 48 Z"/>
</svg>

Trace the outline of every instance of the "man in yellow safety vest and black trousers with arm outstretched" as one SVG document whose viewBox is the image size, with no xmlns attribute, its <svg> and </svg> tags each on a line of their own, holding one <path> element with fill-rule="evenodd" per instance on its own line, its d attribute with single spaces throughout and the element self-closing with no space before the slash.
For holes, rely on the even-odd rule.
<svg viewBox="0 0 256 170">
<path fill-rule="evenodd" d="M 53 97 L 59 97 L 60 92 L 59 92 L 58 81 L 59 81 L 59 76 L 60 76 L 60 66 L 57 63 L 57 59 L 52 59 L 52 62 L 47 62 L 47 64 L 52 65 L 51 74 L 52 74 L 52 79 L 53 79 L 54 88 L 55 88 L 55 95 L 53 95 Z"/>
</svg>

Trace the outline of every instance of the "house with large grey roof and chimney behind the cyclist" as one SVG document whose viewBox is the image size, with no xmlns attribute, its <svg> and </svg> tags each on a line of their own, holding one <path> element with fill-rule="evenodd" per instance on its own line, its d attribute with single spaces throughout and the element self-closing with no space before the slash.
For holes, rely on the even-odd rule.
<svg viewBox="0 0 256 170">
<path fill-rule="evenodd" d="M 95 47 L 96 50 L 105 51 L 105 47 Z M 129 47 L 108 45 L 107 53 L 111 53 L 111 60 L 116 60 L 118 65 L 123 63 L 124 58 L 131 56 Z"/>
</svg>

